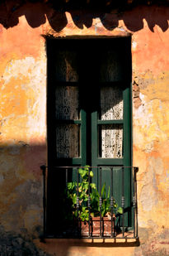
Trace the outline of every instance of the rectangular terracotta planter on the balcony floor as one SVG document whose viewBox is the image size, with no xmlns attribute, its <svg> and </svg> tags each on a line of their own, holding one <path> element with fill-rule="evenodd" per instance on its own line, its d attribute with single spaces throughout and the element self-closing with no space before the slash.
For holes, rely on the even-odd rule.
<svg viewBox="0 0 169 256">
<path fill-rule="evenodd" d="M 89 235 L 89 223 L 88 221 L 81 221 L 81 235 Z M 101 227 L 101 229 L 100 229 Z M 114 234 L 115 218 L 112 220 L 112 232 Z M 101 231 L 100 231 L 101 230 Z M 101 233 L 100 233 L 101 232 Z M 111 235 L 111 220 L 108 217 L 93 217 L 90 220 L 90 236 L 110 236 Z"/>
</svg>

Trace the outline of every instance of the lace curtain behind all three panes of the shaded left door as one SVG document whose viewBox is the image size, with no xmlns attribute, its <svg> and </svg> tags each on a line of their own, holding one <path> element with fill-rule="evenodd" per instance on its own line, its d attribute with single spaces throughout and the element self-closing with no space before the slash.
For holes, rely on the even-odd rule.
<svg viewBox="0 0 169 256">
<path fill-rule="evenodd" d="M 59 82 L 77 82 L 77 52 L 59 51 L 55 65 L 55 77 Z M 79 119 L 79 93 L 77 86 L 57 86 L 55 91 L 55 115 L 57 120 Z M 59 124 L 56 127 L 57 157 L 79 157 L 80 128 L 76 124 Z"/>
</svg>

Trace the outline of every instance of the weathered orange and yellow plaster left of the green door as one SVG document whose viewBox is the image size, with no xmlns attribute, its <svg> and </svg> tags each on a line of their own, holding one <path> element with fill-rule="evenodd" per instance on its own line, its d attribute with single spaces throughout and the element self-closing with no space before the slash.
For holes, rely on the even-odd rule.
<svg viewBox="0 0 169 256">
<path fill-rule="evenodd" d="M 36 235 L 43 216 L 40 165 L 46 162 L 46 57 L 40 34 L 23 16 L 16 27 L 1 26 L 0 34 L 1 225 Z"/>
</svg>

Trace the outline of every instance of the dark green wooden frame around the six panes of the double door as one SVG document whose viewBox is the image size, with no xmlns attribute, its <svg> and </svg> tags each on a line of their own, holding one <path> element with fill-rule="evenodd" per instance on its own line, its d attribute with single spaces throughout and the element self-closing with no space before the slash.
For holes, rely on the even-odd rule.
<svg viewBox="0 0 169 256">
<path fill-rule="evenodd" d="M 97 46 L 96 46 L 97 44 Z M 80 66 L 79 73 L 81 75 L 87 68 L 87 56 L 89 57 L 92 51 L 87 52 L 87 46 L 93 47 L 95 54 L 93 56 L 94 61 L 100 61 L 99 56 L 97 56 L 101 51 L 106 51 L 104 49 L 111 49 L 111 47 L 117 47 L 119 49 L 120 58 L 124 57 L 124 77 L 121 80 L 100 82 L 98 78 L 92 77 L 88 80 L 85 75 L 83 75 L 81 80 L 77 81 L 60 81 L 57 80 L 54 75 L 54 65 L 57 59 L 57 53 L 61 50 L 67 51 L 77 51 L 77 61 L 84 61 Z M 95 48 L 94 48 L 95 46 Z M 105 47 L 105 48 L 104 48 Z M 82 49 L 85 49 L 82 52 Z M 102 50 L 101 50 L 102 49 Z M 131 167 L 132 165 L 132 104 L 131 104 L 131 39 L 130 37 L 125 38 L 96 38 L 96 39 L 56 39 L 47 41 L 47 55 L 48 55 L 48 101 L 47 101 L 47 125 L 48 125 L 48 166 L 49 167 L 61 167 L 61 166 L 85 166 L 89 164 L 92 167 L 110 167 L 114 166 L 115 169 L 115 179 L 119 182 L 115 184 L 115 190 L 118 191 L 118 186 L 121 184 L 120 173 L 118 173 L 118 168 L 120 167 Z M 84 59 L 83 59 L 84 58 Z M 89 61 L 92 60 L 89 58 Z M 93 64 L 93 62 L 92 62 Z M 92 65 L 90 65 L 92 67 Z M 96 73 L 98 66 L 94 67 L 94 71 L 89 71 L 89 75 Z M 88 69 L 89 70 L 89 69 Z M 75 119 L 56 119 L 55 117 L 55 94 L 54 89 L 56 86 L 77 86 L 79 88 L 79 101 L 80 101 L 80 118 Z M 123 108 L 124 114 L 122 119 L 118 120 L 101 120 L 99 118 L 98 100 L 100 97 L 101 86 L 119 86 L 122 89 L 123 95 Z M 90 104 L 92 102 L 92 104 Z M 92 109 L 90 109 L 92 107 Z M 56 127 L 58 124 L 76 124 L 80 128 L 80 155 L 79 157 L 68 157 L 68 158 L 57 158 L 56 152 Z M 114 125 L 121 124 L 123 126 L 123 157 L 120 158 L 103 158 L 99 157 L 99 140 L 98 133 L 101 125 Z M 132 197 L 132 184 L 131 184 L 131 174 L 129 169 L 124 169 L 124 180 L 125 180 L 125 195 L 127 208 L 131 205 Z M 95 173 L 96 183 L 98 183 L 99 176 Z M 55 174 L 50 175 L 48 179 L 49 184 L 49 205 L 48 205 L 48 215 L 47 218 L 49 222 L 53 225 L 54 220 L 54 208 L 51 210 L 52 205 L 54 205 L 54 178 L 57 180 Z M 106 178 L 106 176 L 105 176 Z M 109 179 L 109 178 L 106 178 Z M 107 180 L 108 181 L 108 180 Z M 107 182 L 109 183 L 109 182 Z M 120 201 L 121 195 L 117 195 Z M 129 215 L 125 215 L 125 226 L 131 226 Z"/>
</svg>

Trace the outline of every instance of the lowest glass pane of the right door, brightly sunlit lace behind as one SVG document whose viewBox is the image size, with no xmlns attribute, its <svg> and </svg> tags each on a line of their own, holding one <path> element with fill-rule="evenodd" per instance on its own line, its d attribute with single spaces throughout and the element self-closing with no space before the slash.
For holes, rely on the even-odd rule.
<svg viewBox="0 0 169 256">
<path fill-rule="evenodd" d="M 99 125 L 99 145 L 100 157 L 123 157 L 123 124 Z"/>
</svg>

